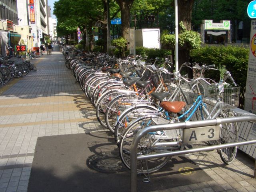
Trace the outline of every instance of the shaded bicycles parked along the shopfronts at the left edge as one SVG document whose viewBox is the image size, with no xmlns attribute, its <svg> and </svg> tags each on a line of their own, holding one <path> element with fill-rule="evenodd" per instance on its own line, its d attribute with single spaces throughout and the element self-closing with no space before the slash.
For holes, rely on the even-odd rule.
<svg viewBox="0 0 256 192">
<path fill-rule="evenodd" d="M 4 86 L 12 78 L 24 77 L 36 66 L 20 57 L 0 57 L 0 85 Z"/>
</svg>

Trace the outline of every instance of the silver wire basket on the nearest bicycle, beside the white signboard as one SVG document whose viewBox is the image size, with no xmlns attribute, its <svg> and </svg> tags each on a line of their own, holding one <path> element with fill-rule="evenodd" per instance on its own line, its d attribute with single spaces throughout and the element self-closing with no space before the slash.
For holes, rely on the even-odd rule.
<svg viewBox="0 0 256 192">
<path fill-rule="evenodd" d="M 224 88 L 223 102 L 231 106 L 239 106 L 240 87 Z"/>
</svg>

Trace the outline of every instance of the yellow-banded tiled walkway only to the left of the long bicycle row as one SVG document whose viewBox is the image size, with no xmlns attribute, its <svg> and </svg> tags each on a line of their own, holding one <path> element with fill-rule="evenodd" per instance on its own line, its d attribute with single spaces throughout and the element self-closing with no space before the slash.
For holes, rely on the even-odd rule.
<svg viewBox="0 0 256 192">
<path fill-rule="evenodd" d="M 100 128 L 57 46 L 30 62 L 37 72 L 0 87 L 0 192 L 27 191 L 38 137 Z"/>
</svg>

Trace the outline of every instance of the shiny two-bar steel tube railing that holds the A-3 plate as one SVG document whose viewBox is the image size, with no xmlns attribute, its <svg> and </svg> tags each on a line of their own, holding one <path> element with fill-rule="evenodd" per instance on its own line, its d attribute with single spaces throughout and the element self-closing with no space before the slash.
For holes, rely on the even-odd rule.
<svg viewBox="0 0 256 192">
<path fill-rule="evenodd" d="M 189 128 L 199 128 L 204 126 L 214 126 L 226 123 L 235 123 L 235 122 L 246 122 L 246 121 L 253 121 L 256 122 L 256 116 L 240 116 L 240 117 L 229 117 L 229 118 L 215 118 L 210 120 L 203 120 L 203 121 L 192 121 L 192 122 L 179 122 L 173 124 L 161 124 L 161 125 L 154 125 L 148 126 L 136 134 L 132 141 L 131 146 L 131 178 L 130 178 L 130 191 L 137 192 L 137 160 L 149 159 L 149 158 L 156 158 L 156 157 L 165 157 L 165 156 L 175 156 L 181 154 L 188 154 L 194 152 L 202 152 L 202 151 L 211 151 L 215 149 L 221 149 L 226 147 L 234 147 L 240 145 L 248 145 L 256 143 L 256 140 L 244 141 L 244 142 L 237 142 L 237 143 L 230 143 L 230 144 L 220 144 L 215 146 L 207 146 L 202 148 L 193 148 L 188 150 L 180 150 L 174 152 L 166 152 L 160 154 L 153 154 L 153 155 L 141 155 L 137 157 L 137 147 L 140 139 L 148 132 L 160 131 L 160 130 L 171 130 L 171 129 L 189 129 Z M 254 165 L 254 178 L 256 178 L 256 160 Z"/>
</svg>

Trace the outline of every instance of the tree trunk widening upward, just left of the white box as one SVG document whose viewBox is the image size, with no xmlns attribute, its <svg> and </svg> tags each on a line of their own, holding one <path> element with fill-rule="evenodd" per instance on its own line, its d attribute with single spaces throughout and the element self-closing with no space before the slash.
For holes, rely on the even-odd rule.
<svg viewBox="0 0 256 192">
<path fill-rule="evenodd" d="M 130 9 L 134 0 L 116 0 L 121 10 L 121 35 L 129 41 Z"/>
</svg>

